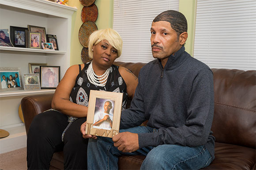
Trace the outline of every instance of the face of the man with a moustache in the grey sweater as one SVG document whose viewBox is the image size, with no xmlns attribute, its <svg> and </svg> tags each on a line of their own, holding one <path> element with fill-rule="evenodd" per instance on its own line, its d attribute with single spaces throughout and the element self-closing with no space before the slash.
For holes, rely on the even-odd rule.
<svg viewBox="0 0 256 170">
<path fill-rule="evenodd" d="M 152 22 L 151 47 L 154 58 L 166 59 L 177 52 L 182 45 L 177 39 L 177 32 L 166 21 Z"/>
</svg>

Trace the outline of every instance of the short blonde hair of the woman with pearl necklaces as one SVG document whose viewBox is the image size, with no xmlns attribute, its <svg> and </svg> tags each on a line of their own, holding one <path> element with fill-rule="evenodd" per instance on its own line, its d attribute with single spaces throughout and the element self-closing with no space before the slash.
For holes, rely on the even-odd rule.
<svg viewBox="0 0 256 170">
<path fill-rule="evenodd" d="M 89 57 L 93 58 L 92 47 L 97 45 L 102 40 L 109 41 L 109 44 L 117 50 L 117 57 L 122 54 L 123 40 L 119 33 L 113 29 L 99 29 L 94 31 L 89 37 L 88 53 Z"/>
</svg>

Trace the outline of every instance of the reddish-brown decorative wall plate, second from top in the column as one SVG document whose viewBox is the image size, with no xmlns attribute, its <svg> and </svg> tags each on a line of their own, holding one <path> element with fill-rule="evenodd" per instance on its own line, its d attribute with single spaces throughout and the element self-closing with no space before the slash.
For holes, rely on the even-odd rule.
<svg viewBox="0 0 256 170">
<path fill-rule="evenodd" d="M 95 4 L 89 7 L 83 7 L 81 11 L 82 22 L 92 21 L 95 22 L 98 18 L 98 8 Z"/>
</svg>

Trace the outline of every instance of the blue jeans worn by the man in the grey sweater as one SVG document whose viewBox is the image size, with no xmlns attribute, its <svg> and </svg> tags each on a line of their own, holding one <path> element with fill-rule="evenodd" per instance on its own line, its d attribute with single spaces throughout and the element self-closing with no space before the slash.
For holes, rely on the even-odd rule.
<svg viewBox="0 0 256 170">
<path fill-rule="evenodd" d="M 139 134 L 151 133 L 155 129 L 141 126 L 120 130 L 120 132 L 126 131 Z M 88 143 L 88 170 L 118 170 L 118 156 L 121 155 L 146 156 L 140 167 L 141 170 L 195 170 L 210 165 L 212 161 L 210 153 L 204 146 L 158 145 L 124 153 L 113 146 L 112 138 L 98 137 L 96 140 L 90 139 Z"/>
</svg>

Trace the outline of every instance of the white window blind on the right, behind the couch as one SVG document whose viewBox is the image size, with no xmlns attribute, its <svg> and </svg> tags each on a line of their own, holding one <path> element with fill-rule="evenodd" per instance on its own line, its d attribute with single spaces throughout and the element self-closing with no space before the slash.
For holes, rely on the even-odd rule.
<svg viewBox="0 0 256 170">
<path fill-rule="evenodd" d="M 256 0 L 197 0 L 194 57 L 211 68 L 256 69 Z"/>
</svg>

